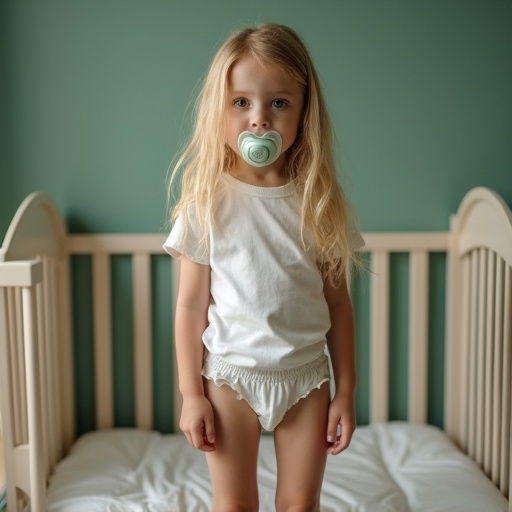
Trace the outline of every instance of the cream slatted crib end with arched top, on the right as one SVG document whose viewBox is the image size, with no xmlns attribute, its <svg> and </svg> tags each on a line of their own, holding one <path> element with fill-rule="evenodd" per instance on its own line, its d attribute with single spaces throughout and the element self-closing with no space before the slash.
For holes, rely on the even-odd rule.
<svg viewBox="0 0 512 512">
<path fill-rule="evenodd" d="M 512 214 L 488 189 L 452 219 L 447 431 L 508 496 L 512 371 Z"/>
</svg>

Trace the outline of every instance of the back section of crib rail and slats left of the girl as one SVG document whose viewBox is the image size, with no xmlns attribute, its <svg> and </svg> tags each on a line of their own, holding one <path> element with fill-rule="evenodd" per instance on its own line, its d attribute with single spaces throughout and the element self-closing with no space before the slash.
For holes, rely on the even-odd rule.
<svg viewBox="0 0 512 512">
<path fill-rule="evenodd" d="M 90 301 L 92 329 L 90 336 L 81 334 L 81 343 L 93 354 L 91 367 L 83 368 L 94 382 L 92 404 L 83 400 L 94 418 L 92 428 L 177 431 L 181 406 L 172 347 L 178 262 L 164 254 L 164 241 L 161 234 L 68 236 L 69 254 L 82 264 L 75 268 L 81 282 L 75 305 Z M 81 313 L 76 307 L 75 315 Z M 158 420 L 161 409 L 170 413 L 164 413 L 165 420 Z"/>
</svg>

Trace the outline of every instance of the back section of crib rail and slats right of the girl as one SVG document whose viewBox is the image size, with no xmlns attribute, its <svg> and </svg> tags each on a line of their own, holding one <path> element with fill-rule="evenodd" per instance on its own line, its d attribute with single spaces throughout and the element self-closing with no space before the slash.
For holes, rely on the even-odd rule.
<svg viewBox="0 0 512 512">
<path fill-rule="evenodd" d="M 363 237 L 370 276 L 367 298 L 369 333 L 366 343 L 360 339 L 364 335 L 358 336 L 358 343 L 368 345 L 368 422 L 402 419 L 427 423 L 432 365 L 430 345 L 442 346 L 444 343 L 431 332 L 430 304 L 435 290 L 431 286 L 430 269 L 432 258 L 445 254 L 448 233 L 380 232 L 364 233 Z M 394 263 L 395 259 L 397 263 Z M 393 326 L 397 316 L 396 303 L 404 294 L 406 298 L 402 302 L 405 307 L 398 311 L 403 328 L 398 333 Z M 403 341 L 398 338 L 403 338 Z M 396 395 L 392 385 L 396 379 L 395 361 L 392 359 L 397 350 L 405 353 L 401 354 L 405 374 L 402 379 L 405 393 L 401 396 Z M 366 378 L 365 372 L 360 372 L 360 376 Z M 395 409 L 405 411 L 401 413 L 402 417 L 393 417 Z"/>
</svg>

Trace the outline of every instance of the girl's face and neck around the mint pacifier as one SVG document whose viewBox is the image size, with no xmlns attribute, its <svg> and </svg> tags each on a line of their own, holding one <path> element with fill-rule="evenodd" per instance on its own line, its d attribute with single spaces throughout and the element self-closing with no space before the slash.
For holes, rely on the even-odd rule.
<svg viewBox="0 0 512 512">
<path fill-rule="evenodd" d="M 261 64 L 248 56 L 237 61 L 228 75 L 226 138 L 236 153 L 235 171 L 240 174 L 283 174 L 286 151 L 294 143 L 304 108 L 304 88 L 275 65 Z M 283 145 L 280 157 L 271 165 L 255 168 L 238 151 L 238 136 L 243 131 L 263 135 L 277 131 Z"/>
</svg>

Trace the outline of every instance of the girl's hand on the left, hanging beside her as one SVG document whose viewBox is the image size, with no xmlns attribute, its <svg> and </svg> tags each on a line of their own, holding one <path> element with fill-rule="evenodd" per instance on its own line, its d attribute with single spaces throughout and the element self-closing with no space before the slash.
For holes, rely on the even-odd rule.
<svg viewBox="0 0 512 512">
<path fill-rule="evenodd" d="M 205 396 L 183 399 L 180 428 L 187 441 L 197 450 L 215 450 L 215 426 L 212 404 Z"/>
</svg>

